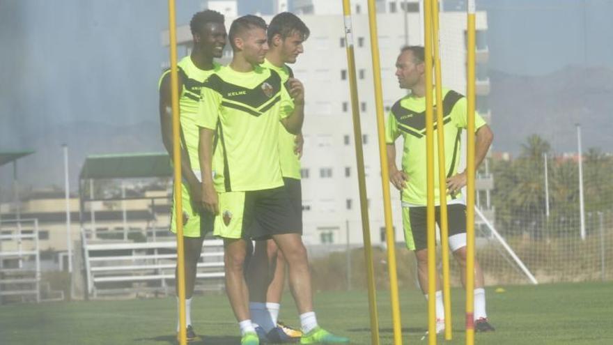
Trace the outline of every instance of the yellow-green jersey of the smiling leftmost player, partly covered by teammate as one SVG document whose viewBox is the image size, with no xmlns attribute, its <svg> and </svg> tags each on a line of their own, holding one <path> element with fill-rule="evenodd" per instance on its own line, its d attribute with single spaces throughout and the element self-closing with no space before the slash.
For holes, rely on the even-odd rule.
<svg viewBox="0 0 613 345">
<path fill-rule="evenodd" d="M 181 146 L 187 149 L 189 164 L 192 165 L 192 170 L 200 171 L 200 162 L 198 160 L 199 129 L 196 125 L 200 91 L 204 81 L 222 66 L 214 62 L 212 70 L 201 70 L 194 65 L 189 55 L 181 59 L 177 66 L 178 74 L 183 79 L 183 88 L 179 97 L 179 118 L 181 121 L 181 137 L 179 140 Z M 162 73 L 158 88 L 162 86 L 162 79 L 169 73 L 170 69 Z M 200 178 L 199 174 L 196 174 L 196 177 Z"/>
</svg>

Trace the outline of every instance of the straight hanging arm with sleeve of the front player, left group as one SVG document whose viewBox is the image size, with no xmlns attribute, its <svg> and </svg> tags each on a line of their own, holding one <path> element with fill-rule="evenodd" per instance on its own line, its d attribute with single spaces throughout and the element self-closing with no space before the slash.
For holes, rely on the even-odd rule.
<svg viewBox="0 0 613 345">
<path fill-rule="evenodd" d="M 219 213 L 219 199 L 215 185 L 213 185 L 213 138 L 215 128 L 219 121 L 219 105 L 221 96 L 216 91 L 203 87 L 201 100 L 199 102 L 198 114 L 196 114 L 196 125 L 199 130 L 198 154 L 200 171 L 202 174 L 202 208 L 209 213 L 217 215 Z"/>
</svg>

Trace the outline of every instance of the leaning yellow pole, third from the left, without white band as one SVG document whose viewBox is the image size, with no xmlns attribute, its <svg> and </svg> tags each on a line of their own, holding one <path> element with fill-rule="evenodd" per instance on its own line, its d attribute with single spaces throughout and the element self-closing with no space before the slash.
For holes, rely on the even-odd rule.
<svg viewBox="0 0 613 345">
<path fill-rule="evenodd" d="M 387 165 L 387 144 L 385 142 L 385 120 L 383 115 L 383 95 L 381 86 L 381 66 L 379 61 L 379 37 L 377 33 L 377 8 L 375 0 L 368 0 L 368 26 L 371 31 L 371 55 L 373 56 L 373 80 L 375 83 L 375 105 L 377 109 L 377 129 L 379 134 L 379 157 L 381 163 L 381 183 L 383 186 L 383 211 L 385 214 L 385 238 L 387 241 L 387 271 L 389 274 L 389 297 L 391 303 L 391 322 L 394 328 L 394 344 L 402 344 L 400 300 L 398 298 L 398 272 L 396 270 L 396 235 L 391 220 L 391 198 L 389 196 L 389 170 Z"/>
</svg>

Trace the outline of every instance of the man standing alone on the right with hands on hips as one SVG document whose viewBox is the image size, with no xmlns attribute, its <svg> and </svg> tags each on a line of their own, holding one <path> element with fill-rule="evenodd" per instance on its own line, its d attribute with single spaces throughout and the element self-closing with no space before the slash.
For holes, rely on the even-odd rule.
<svg viewBox="0 0 613 345">
<path fill-rule="evenodd" d="M 419 286 L 427 298 L 428 249 L 426 236 L 426 64 L 424 47 L 410 46 L 401 49 L 396 61 L 396 77 L 401 89 L 411 92 L 391 107 L 387 118 L 386 140 L 389 160 L 389 179 L 401 191 L 403 228 L 409 250 L 417 257 Z M 447 202 L 449 223 L 449 248 L 461 268 L 462 284 L 465 285 L 466 268 L 466 206 L 460 189 L 466 185 L 466 171 L 458 170 L 460 164 L 460 137 L 467 126 L 466 98 L 455 91 L 443 89 L 445 167 L 447 171 Z M 475 168 L 479 167 L 492 143 L 492 131 L 479 114 L 475 114 L 476 144 Z M 472 135 L 469 133 L 468 135 Z M 402 169 L 396 167 L 394 141 L 402 136 L 404 141 Z M 438 176 L 435 159 L 435 176 Z M 438 179 L 435 178 L 435 203 L 440 205 Z M 436 206 L 436 219 L 440 222 L 440 207 Z M 494 330 L 486 314 L 486 293 L 483 290 L 483 271 L 474 263 L 474 321 L 478 332 Z M 440 278 L 436 277 L 437 333 L 444 330 L 444 309 Z"/>
</svg>

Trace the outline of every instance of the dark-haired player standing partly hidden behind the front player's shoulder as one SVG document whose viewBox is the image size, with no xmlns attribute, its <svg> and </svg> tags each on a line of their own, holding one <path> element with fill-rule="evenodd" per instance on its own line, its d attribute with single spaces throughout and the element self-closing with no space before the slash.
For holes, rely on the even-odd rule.
<svg viewBox="0 0 613 345">
<path fill-rule="evenodd" d="M 297 56 L 304 52 L 302 43 L 309 37 L 309 28 L 293 13 L 275 15 L 267 30 L 269 50 L 266 53 L 265 68 L 281 76 L 281 82 L 288 87 L 293 78 L 287 63 L 295 63 Z M 293 135 L 279 122 L 279 158 L 281 175 L 295 210 L 297 224 L 302 231 L 302 187 L 300 184 L 300 155 L 302 135 Z M 270 261 L 269 261 L 270 260 Z M 270 263 L 267 263 L 269 261 Z M 279 344 L 300 340 L 302 332 L 278 323 L 281 296 L 285 283 L 286 262 L 274 240 L 258 240 L 254 257 L 247 270 L 249 284 L 249 312 L 261 340 Z"/>
</svg>

